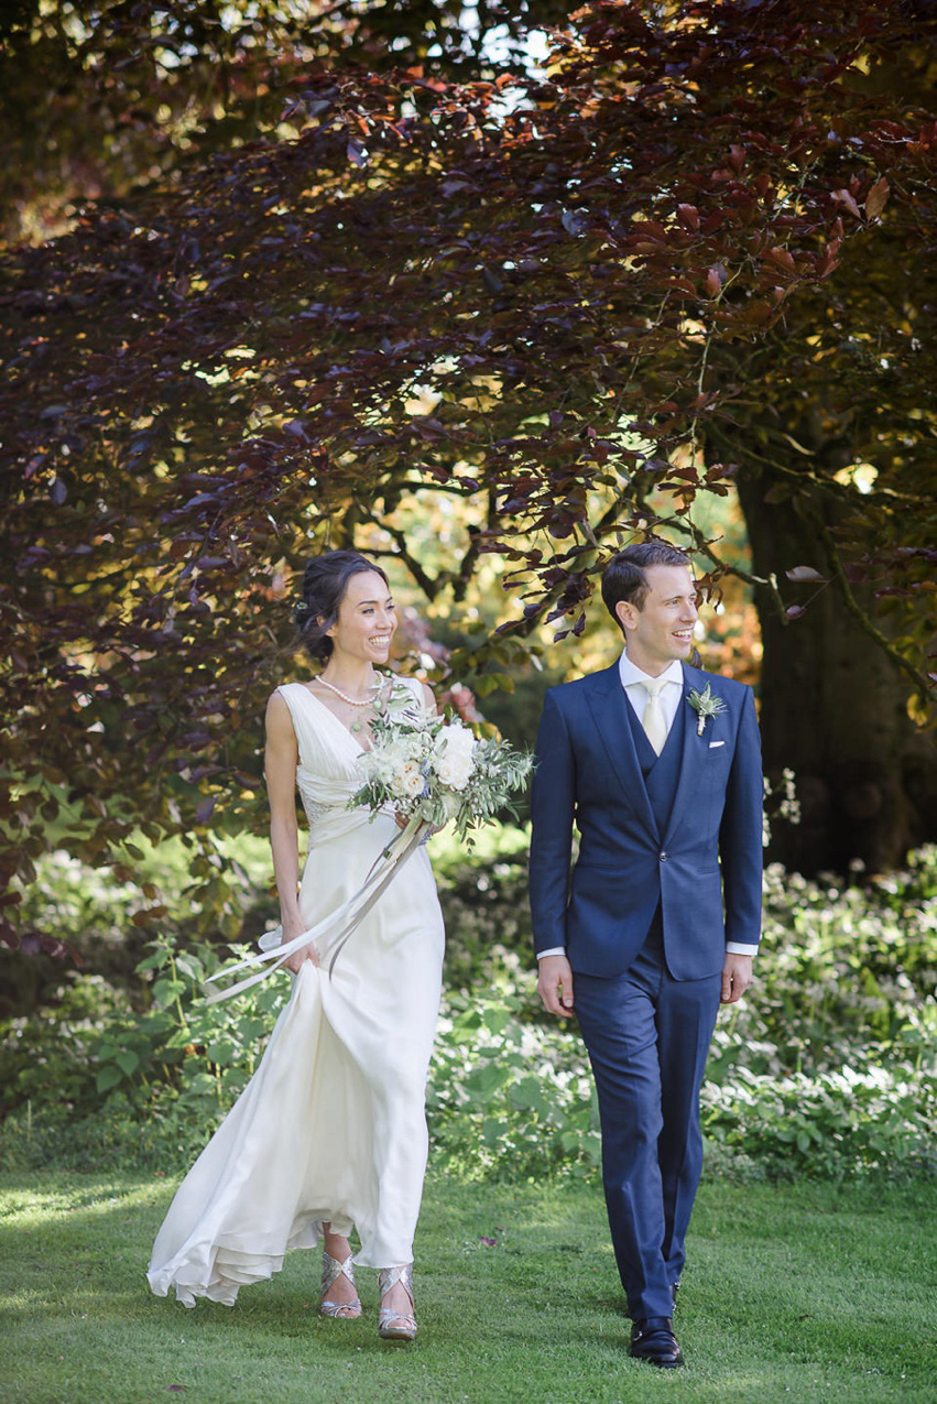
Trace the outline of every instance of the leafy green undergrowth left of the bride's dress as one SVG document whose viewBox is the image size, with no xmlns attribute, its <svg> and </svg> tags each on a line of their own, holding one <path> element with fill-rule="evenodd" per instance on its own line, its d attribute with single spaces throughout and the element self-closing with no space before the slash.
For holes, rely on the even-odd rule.
<svg viewBox="0 0 937 1404">
<path fill-rule="evenodd" d="M 24 1132 L 45 1163 L 67 1123 L 62 1154 L 79 1167 L 86 1144 L 97 1146 L 91 1119 L 103 1129 L 136 1126 L 128 1144 L 138 1143 L 145 1164 L 157 1163 L 157 1143 L 202 1141 L 251 1077 L 285 1000 L 284 984 L 270 981 L 209 1009 L 202 980 L 216 966 L 212 948 L 178 951 L 163 935 L 136 967 L 142 1012 L 100 977 L 77 974 L 41 1019 L 8 1021 L 0 1029 L 0 1073 L 6 1111 L 15 1115 L 3 1126 L 3 1163 L 18 1165 Z M 108 1144 L 118 1140 L 105 1136 Z"/>
</svg>

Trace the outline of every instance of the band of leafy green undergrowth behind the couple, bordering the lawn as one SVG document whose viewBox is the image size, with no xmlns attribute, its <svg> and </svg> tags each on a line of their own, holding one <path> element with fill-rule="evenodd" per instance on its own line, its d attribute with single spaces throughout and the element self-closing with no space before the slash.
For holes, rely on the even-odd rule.
<svg viewBox="0 0 937 1404">
<path fill-rule="evenodd" d="M 466 1178 L 593 1174 L 591 1078 L 579 1035 L 535 995 L 523 854 L 485 835 L 475 861 L 445 841 L 435 861 L 448 929 L 427 1099 L 435 1164 Z M 67 878 L 69 910 L 104 908 L 97 878 L 90 897 L 73 890 L 81 873 Z M 180 880 L 180 908 L 184 893 Z M 132 893 L 118 899 L 129 910 Z M 242 910 L 250 899 L 244 880 Z M 62 914 L 60 893 L 46 900 Z M 167 910 L 138 952 L 129 993 L 73 972 L 41 1016 L 0 1025 L 0 1164 L 177 1172 L 204 1144 L 288 987 L 271 980 L 207 1008 L 218 949 L 180 936 L 181 915 Z M 937 848 L 865 886 L 774 868 L 764 931 L 752 994 L 716 1025 L 702 1094 L 711 1165 L 743 1178 L 934 1174 Z"/>
</svg>

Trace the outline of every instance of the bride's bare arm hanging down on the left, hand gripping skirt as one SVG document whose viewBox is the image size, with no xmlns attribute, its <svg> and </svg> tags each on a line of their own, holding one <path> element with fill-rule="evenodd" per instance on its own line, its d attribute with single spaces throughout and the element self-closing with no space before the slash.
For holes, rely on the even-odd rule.
<svg viewBox="0 0 937 1404">
<path fill-rule="evenodd" d="M 267 744 L 264 748 L 264 776 L 270 799 L 270 848 L 274 858 L 274 878 L 280 894 L 282 942 L 292 941 L 303 929 L 299 915 L 299 835 L 296 826 L 296 733 L 289 708 L 274 692 L 267 703 Z M 294 973 L 303 960 L 315 960 L 312 946 L 294 952 L 284 963 Z"/>
</svg>

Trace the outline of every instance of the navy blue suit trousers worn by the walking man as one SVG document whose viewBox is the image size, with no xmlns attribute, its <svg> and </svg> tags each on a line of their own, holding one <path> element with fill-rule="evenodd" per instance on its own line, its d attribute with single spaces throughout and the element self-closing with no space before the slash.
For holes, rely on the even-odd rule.
<svg viewBox="0 0 937 1404">
<path fill-rule="evenodd" d="M 700 1087 L 721 990 L 721 973 L 669 974 L 659 920 L 625 974 L 573 976 L 598 1092 L 611 1241 L 634 1320 L 673 1316 L 702 1171 Z"/>
</svg>

